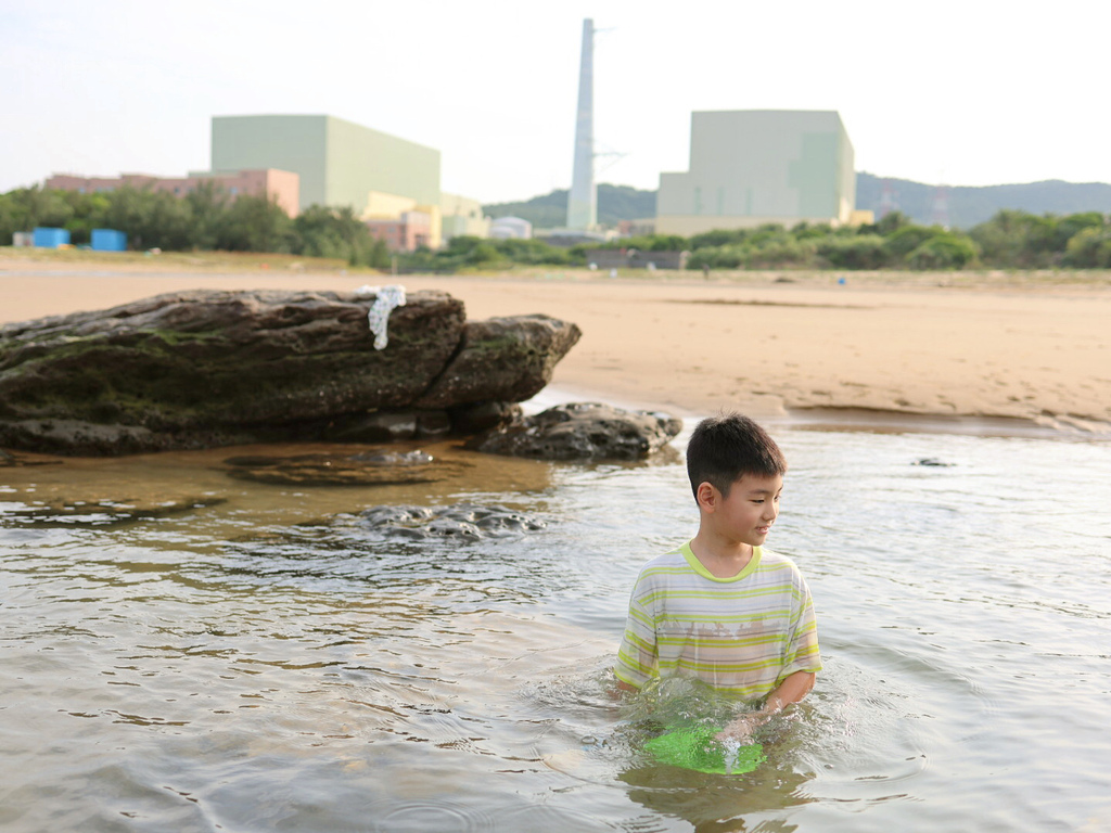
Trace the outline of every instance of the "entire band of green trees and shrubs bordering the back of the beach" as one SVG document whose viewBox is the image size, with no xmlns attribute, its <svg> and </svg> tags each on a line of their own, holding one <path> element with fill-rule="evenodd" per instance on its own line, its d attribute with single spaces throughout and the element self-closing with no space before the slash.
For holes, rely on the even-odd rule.
<svg viewBox="0 0 1111 833">
<path fill-rule="evenodd" d="M 217 183 L 182 198 L 149 189 L 77 193 L 34 188 L 0 195 L 0 244 L 38 225 L 64 228 L 76 244 L 92 229 L 123 231 L 131 248 L 224 250 L 339 258 L 386 268 L 391 254 L 350 208 L 312 205 L 290 219 L 273 201 L 233 199 Z M 899 212 L 859 227 L 799 223 L 653 234 L 571 249 L 543 240 L 454 238 L 437 251 L 398 255 L 408 272 L 454 272 L 513 264 L 585 265 L 592 248 L 688 251 L 690 269 L 1111 269 L 1111 222 L 1100 212 L 1057 217 L 1000 211 L 968 231 L 919 225 Z"/>
</svg>

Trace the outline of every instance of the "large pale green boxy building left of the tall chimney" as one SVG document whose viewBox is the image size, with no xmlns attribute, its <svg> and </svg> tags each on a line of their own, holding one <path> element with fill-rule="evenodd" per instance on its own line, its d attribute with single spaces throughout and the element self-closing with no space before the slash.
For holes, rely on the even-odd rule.
<svg viewBox="0 0 1111 833">
<path fill-rule="evenodd" d="M 333 116 L 217 116 L 212 170 L 272 168 L 300 177 L 300 208 L 374 213 L 391 205 L 440 205 L 440 151 Z M 438 220 L 437 220 L 438 222 Z"/>
</svg>

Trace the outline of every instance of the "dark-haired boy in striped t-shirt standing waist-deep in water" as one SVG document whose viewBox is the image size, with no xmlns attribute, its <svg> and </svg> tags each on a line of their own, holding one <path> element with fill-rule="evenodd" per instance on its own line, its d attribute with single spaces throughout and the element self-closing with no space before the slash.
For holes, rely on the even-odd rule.
<svg viewBox="0 0 1111 833">
<path fill-rule="evenodd" d="M 687 445 L 698 534 L 648 562 L 629 601 L 613 669 L 622 689 L 688 676 L 763 701 L 720 737 L 745 739 L 802 700 L 821 670 L 807 582 L 789 559 L 762 546 L 785 472 L 774 440 L 747 416 L 700 422 Z"/>
</svg>

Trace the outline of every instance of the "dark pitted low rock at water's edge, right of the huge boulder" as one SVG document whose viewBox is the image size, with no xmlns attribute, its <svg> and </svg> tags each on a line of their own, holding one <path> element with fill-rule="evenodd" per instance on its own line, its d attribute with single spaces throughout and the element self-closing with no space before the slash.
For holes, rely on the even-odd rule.
<svg viewBox="0 0 1111 833">
<path fill-rule="evenodd" d="M 648 411 L 578 402 L 488 431 L 469 449 L 541 460 L 642 460 L 667 445 L 682 421 Z"/>
</svg>

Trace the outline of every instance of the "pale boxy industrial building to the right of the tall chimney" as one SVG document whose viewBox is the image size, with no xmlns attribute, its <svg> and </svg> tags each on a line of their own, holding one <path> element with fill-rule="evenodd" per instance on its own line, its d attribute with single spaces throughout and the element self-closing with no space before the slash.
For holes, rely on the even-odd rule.
<svg viewBox="0 0 1111 833">
<path fill-rule="evenodd" d="M 690 170 L 660 174 L 655 231 L 853 222 L 852 143 L 835 111 L 691 113 Z"/>
</svg>

